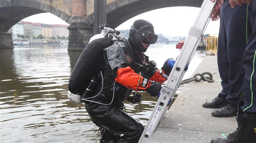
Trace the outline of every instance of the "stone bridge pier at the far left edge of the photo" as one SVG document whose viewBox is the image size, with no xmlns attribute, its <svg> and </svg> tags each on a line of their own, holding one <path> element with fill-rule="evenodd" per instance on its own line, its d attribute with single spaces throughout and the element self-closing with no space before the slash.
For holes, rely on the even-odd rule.
<svg viewBox="0 0 256 143">
<path fill-rule="evenodd" d="M 0 49 L 2 48 L 14 48 L 13 38 L 11 33 L 0 32 Z"/>
</svg>

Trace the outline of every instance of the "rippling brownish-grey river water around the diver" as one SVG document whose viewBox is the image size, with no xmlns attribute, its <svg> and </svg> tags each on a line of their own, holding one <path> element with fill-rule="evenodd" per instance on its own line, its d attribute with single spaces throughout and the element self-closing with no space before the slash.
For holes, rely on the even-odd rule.
<svg viewBox="0 0 256 143">
<path fill-rule="evenodd" d="M 80 53 L 67 51 L 67 45 L 0 49 L 1 143 L 99 142 L 100 131 L 84 105 L 74 104 L 66 96 Z M 166 59 L 175 59 L 179 53 L 175 44 L 162 44 L 151 45 L 146 55 L 161 68 Z M 205 55 L 205 50 L 196 50 L 184 78 L 191 76 Z M 124 111 L 145 126 L 156 101 L 143 93 L 141 103 L 125 102 Z"/>
</svg>

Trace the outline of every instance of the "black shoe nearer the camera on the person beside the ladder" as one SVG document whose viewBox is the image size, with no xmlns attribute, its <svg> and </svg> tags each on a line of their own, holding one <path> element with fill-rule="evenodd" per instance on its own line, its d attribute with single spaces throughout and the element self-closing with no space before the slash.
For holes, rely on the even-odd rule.
<svg viewBox="0 0 256 143">
<path fill-rule="evenodd" d="M 237 105 L 233 103 L 226 103 L 221 105 L 221 108 L 212 111 L 212 115 L 215 117 L 232 117 L 236 116 Z"/>
</svg>

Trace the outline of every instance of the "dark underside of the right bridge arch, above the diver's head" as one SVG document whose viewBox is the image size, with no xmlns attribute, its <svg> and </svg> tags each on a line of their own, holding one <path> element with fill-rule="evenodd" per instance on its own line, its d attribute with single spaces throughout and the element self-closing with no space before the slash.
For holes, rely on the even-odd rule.
<svg viewBox="0 0 256 143">
<path fill-rule="evenodd" d="M 202 2 L 203 0 L 115 0 L 107 5 L 106 19 L 112 28 L 116 28 L 141 13 L 173 6 L 200 7 Z M 93 13 L 87 18 L 89 25 L 93 25 Z"/>
</svg>

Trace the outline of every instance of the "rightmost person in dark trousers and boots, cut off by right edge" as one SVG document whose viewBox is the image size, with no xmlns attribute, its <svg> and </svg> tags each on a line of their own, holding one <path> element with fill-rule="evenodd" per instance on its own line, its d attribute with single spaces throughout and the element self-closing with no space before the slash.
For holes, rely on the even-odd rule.
<svg viewBox="0 0 256 143">
<path fill-rule="evenodd" d="M 214 0 L 213 0 L 214 1 Z M 252 36 L 249 38 L 242 65 L 245 68 L 243 93 L 238 103 L 238 128 L 227 139 L 215 138 L 210 143 L 255 143 L 256 142 L 256 2 L 253 0 L 229 0 L 232 8 L 250 3 L 252 11 Z M 235 6 L 237 5 L 237 6 Z M 242 28 L 242 27 L 241 27 Z"/>
</svg>

